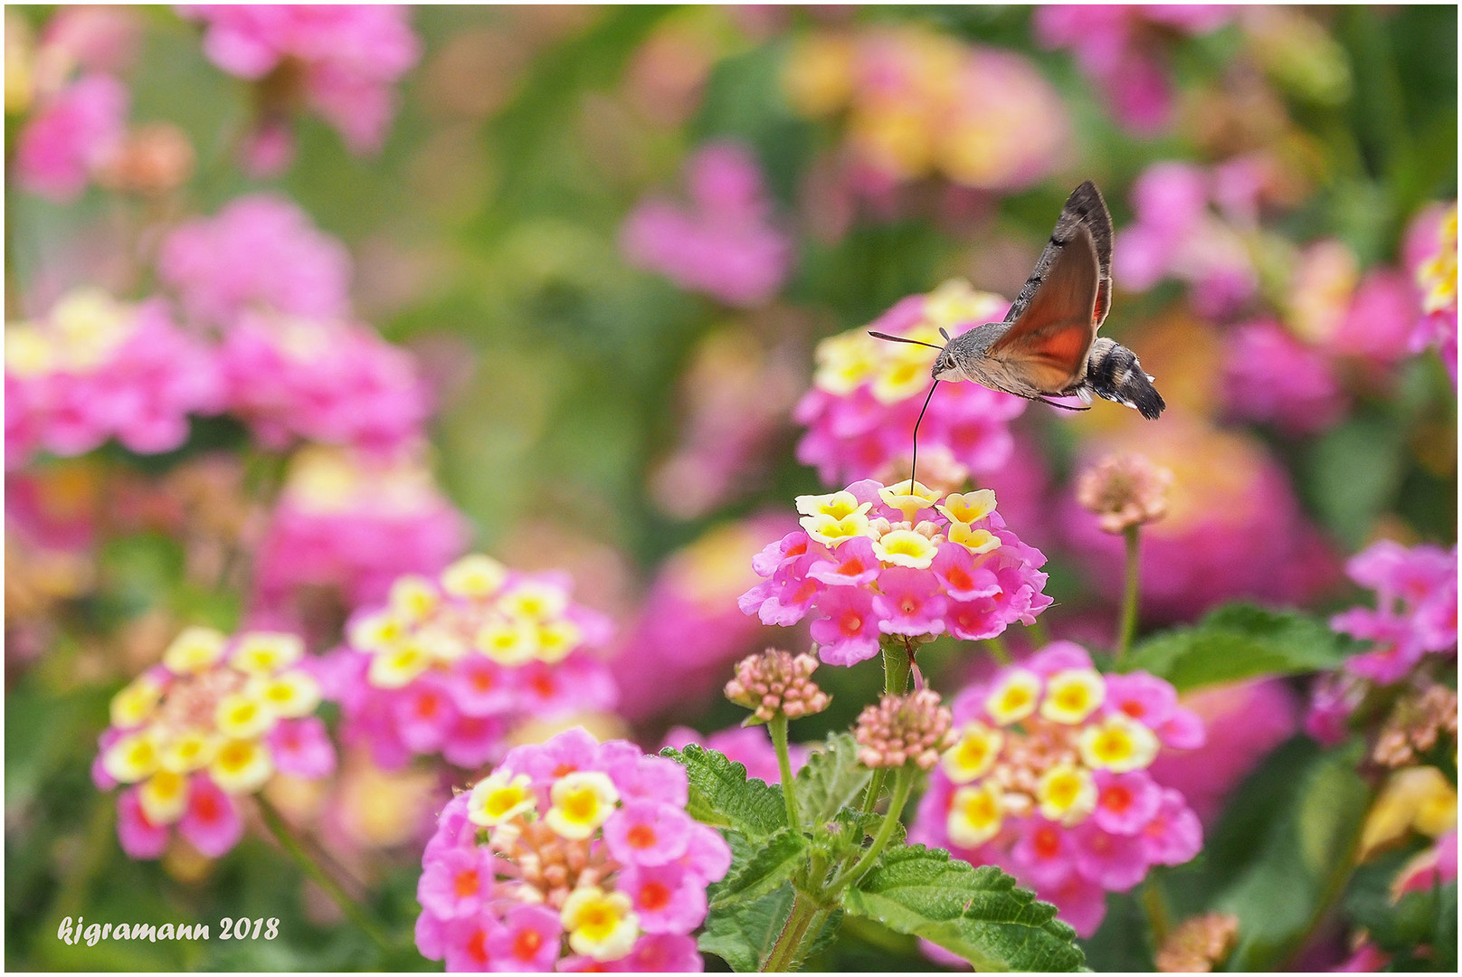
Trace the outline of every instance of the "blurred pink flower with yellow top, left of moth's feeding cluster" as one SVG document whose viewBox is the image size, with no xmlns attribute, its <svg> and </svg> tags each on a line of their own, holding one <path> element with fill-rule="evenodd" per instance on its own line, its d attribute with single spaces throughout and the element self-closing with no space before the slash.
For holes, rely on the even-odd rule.
<svg viewBox="0 0 1462 977">
<path fill-rule="evenodd" d="M 766 626 L 747 619 L 735 601 L 757 581 L 751 557 L 794 527 L 787 516 L 756 515 L 711 529 L 661 565 L 610 652 L 621 715 L 637 723 L 677 708 L 693 711 L 719 692 L 735 658 L 769 642 Z"/>
</svg>

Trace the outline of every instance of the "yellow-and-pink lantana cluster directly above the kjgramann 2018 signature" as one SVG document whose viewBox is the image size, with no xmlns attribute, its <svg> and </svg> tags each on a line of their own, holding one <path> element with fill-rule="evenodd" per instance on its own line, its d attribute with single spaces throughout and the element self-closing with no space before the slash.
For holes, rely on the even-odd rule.
<svg viewBox="0 0 1462 977">
<path fill-rule="evenodd" d="M 240 799 L 276 774 L 333 772 L 335 749 L 313 715 L 322 687 L 303 655 L 295 635 L 189 627 L 113 698 L 92 780 L 126 785 L 117 838 L 129 856 L 159 857 L 177 828 L 218 857 L 243 834 Z"/>
</svg>

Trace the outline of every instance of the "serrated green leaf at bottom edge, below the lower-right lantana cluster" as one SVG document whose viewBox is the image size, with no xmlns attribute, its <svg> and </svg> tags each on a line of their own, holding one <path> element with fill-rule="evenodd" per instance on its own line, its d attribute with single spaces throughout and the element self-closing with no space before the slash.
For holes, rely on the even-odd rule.
<svg viewBox="0 0 1462 977">
<path fill-rule="evenodd" d="M 994 866 L 942 848 L 892 848 L 849 889 L 846 910 L 959 954 L 975 970 L 1073 971 L 1085 957 L 1056 907 Z"/>
</svg>

